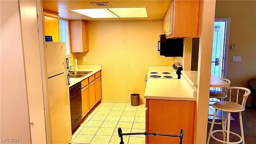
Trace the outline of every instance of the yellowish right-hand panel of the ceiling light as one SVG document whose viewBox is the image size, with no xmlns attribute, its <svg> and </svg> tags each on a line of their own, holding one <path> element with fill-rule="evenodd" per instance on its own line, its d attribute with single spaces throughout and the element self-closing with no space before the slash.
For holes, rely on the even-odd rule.
<svg viewBox="0 0 256 144">
<path fill-rule="evenodd" d="M 108 8 L 120 18 L 147 18 L 146 8 Z"/>
</svg>

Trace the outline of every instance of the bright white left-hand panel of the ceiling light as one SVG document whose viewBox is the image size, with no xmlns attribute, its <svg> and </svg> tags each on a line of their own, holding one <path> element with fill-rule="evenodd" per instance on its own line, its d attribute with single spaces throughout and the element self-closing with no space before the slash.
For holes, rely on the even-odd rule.
<svg viewBox="0 0 256 144">
<path fill-rule="evenodd" d="M 116 16 L 106 8 L 76 9 L 72 11 L 83 14 L 85 16 L 89 16 L 91 18 L 118 18 L 118 16 Z"/>
</svg>

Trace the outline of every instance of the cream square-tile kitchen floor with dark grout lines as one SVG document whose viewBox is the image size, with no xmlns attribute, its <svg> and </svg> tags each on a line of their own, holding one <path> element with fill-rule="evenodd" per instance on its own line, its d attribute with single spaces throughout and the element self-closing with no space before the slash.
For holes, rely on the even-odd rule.
<svg viewBox="0 0 256 144">
<path fill-rule="evenodd" d="M 72 135 L 72 144 L 119 144 L 118 128 L 123 133 L 145 132 L 145 104 L 99 102 Z M 124 144 L 145 144 L 144 135 L 123 136 Z"/>
</svg>

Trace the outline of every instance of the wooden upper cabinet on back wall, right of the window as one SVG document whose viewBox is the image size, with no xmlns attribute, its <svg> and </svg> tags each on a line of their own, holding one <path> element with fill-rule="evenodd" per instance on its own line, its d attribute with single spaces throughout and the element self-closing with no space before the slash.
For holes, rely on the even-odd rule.
<svg viewBox="0 0 256 144">
<path fill-rule="evenodd" d="M 88 52 L 88 23 L 85 20 L 69 20 L 71 52 Z"/>
</svg>

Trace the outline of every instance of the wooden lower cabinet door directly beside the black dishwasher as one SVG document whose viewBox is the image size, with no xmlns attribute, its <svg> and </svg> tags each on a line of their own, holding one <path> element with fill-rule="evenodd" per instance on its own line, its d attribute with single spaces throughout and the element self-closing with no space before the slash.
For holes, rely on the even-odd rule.
<svg viewBox="0 0 256 144">
<path fill-rule="evenodd" d="M 88 86 L 82 89 L 82 118 L 89 112 L 89 90 Z"/>
</svg>

